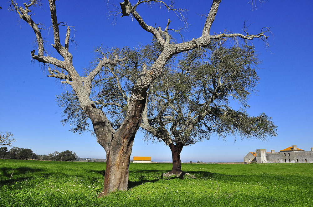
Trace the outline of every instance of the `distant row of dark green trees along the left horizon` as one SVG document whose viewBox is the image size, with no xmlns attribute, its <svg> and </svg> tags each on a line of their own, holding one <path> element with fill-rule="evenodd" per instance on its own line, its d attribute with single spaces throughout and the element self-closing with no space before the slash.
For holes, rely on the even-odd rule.
<svg viewBox="0 0 313 207">
<path fill-rule="evenodd" d="M 48 155 L 37 155 L 31 149 L 12 147 L 8 151 L 7 147 L 0 147 L 0 159 L 74 161 L 77 159 L 77 155 L 69 150 L 64 152 L 55 151 Z"/>
</svg>

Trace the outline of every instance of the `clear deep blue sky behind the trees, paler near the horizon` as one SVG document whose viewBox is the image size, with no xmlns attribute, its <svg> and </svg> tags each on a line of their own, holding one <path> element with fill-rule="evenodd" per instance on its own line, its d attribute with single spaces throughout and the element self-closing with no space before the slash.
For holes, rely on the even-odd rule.
<svg viewBox="0 0 313 207">
<path fill-rule="evenodd" d="M 105 158 L 105 151 L 94 136 L 87 132 L 83 136 L 69 132 L 70 127 L 60 122 L 62 109 L 57 106 L 55 95 L 68 89 L 68 86 L 60 84 L 57 79 L 46 77 L 47 71 L 41 70 L 37 62 L 32 63 L 30 51 L 36 46 L 33 42 L 35 35 L 25 22 L 20 22 L 16 13 L 8 12 L 6 2 L 2 1 L 0 5 L 0 131 L 15 134 L 16 142 L 13 146 L 30 148 L 37 154 L 70 150 L 79 157 Z M 275 38 L 269 37 L 271 52 L 264 48 L 262 41 L 252 41 L 263 63 L 259 65 L 261 69 L 258 71 L 259 92 L 251 95 L 248 112 L 252 116 L 264 112 L 272 117 L 278 126 L 278 136 L 266 142 L 238 138 L 235 143 L 233 137 L 227 137 L 226 142 L 211 137 L 194 146 L 184 147 L 182 161 L 243 161 L 243 157 L 255 149 L 279 151 L 293 144 L 304 150 L 313 147 L 313 43 L 310 40 L 313 33 L 313 1 L 295 3 L 291 0 L 269 0 L 253 11 L 247 2 L 223 0 L 211 33 L 220 33 L 224 29 L 242 33 L 244 21 L 253 23 L 249 27 L 249 34 L 258 33 L 264 26 L 272 27 Z M 176 7 L 189 10 L 187 17 L 190 25 L 188 31 L 183 32 L 185 39 L 201 35 L 205 19 L 201 20 L 198 14 L 207 14 L 211 3 L 177 1 Z M 107 17 L 105 1 L 57 1 L 56 6 L 58 21 L 75 26 L 78 46 L 76 50 L 70 46 L 70 51 L 78 71 L 88 66 L 96 46 L 133 47 L 151 41 L 151 34 L 137 22 L 132 22 L 131 17 L 118 17 L 116 25 L 112 25 L 112 18 L 108 20 Z M 164 28 L 170 18 L 171 28 L 184 26 L 173 13 L 157 6 L 152 9 L 141 6 L 137 11 L 150 25 Z M 48 28 L 49 17 L 49 7 L 43 1 L 43 9 L 37 8 L 33 19 Z M 65 28 L 61 28 L 60 35 L 61 38 L 65 37 Z M 53 43 L 51 36 L 44 38 L 49 41 L 46 49 L 54 52 L 49 46 Z M 179 37 L 177 41 L 180 41 Z M 147 144 L 142 139 L 143 134 L 137 132 L 131 157 L 151 156 L 152 161 L 171 161 L 169 147 L 163 143 Z"/>
</svg>

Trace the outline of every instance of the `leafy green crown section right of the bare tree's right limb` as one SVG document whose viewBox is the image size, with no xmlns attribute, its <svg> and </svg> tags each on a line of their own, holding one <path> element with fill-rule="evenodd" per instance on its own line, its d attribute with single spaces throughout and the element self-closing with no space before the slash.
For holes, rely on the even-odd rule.
<svg viewBox="0 0 313 207">
<path fill-rule="evenodd" d="M 177 65 L 164 70 L 149 89 L 149 124 L 159 133 L 148 139 L 164 141 L 168 134 L 173 142 L 188 146 L 212 134 L 262 140 L 276 136 L 271 118 L 245 111 L 259 81 L 260 61 L 253 46 L 229 47 L 218 40 L 176 58 Z M 238 111 L 231 108 L 236 102 Z"/>
</svg>

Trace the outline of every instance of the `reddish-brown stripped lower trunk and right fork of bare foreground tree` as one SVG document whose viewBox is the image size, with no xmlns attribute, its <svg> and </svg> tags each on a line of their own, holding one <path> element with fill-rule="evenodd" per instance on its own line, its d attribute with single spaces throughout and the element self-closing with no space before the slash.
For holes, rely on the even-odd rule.
<svg viewBox="0 0 313 207">
<path fill-rule="evenodd" d="M 123 124 L 116 134 L 111 133 L 114 137 L 106 150 L 104 187 L 98 197 L 108 195 L 114 190 L 127 190 L 131 148 L 141 123 L 141 113 L 145 107 L 146 98 L 143 100 L 133 99 L 130 104 L 130 111 Z M 107 134 L 111 136 L 110 133 Z"/>
</svg>

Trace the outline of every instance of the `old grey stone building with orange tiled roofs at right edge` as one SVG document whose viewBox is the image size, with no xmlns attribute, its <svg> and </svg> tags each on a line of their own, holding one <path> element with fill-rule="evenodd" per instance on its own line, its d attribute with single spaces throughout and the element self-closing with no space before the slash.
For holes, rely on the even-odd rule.
<svg viewBox="0 0 313 207">
<path fill-rule="evenodd" d="M 313 163 L 313 147 L 311 151 L 305 151 L 292 145 L 286 149 L 275 152 L 266 152 L 265 149 L 257 149 L 244 156 L 244 164 L 257 163 Z"/>
</svg>

